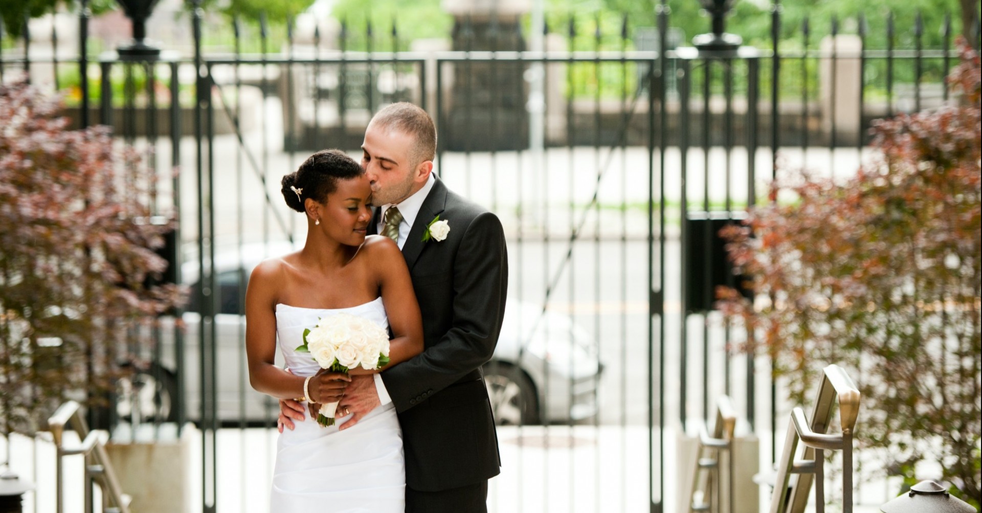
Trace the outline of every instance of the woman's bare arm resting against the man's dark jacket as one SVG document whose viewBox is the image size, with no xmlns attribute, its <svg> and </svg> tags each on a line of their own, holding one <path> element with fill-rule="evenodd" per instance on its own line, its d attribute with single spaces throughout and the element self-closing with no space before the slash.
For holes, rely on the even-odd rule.
<svg viewBox="0 0 982 513">
<path fill-rule="evenodd" d="M 365 246 L 371 272 L 378 278 L 382 304 L 389 317 L 393 338 L 389 341 L 389 365 L 375 371 L 365 371 L 360 367 L 349 371 L 355 375 L 384 371 L 423 351 L 422 315 L 412 291 L 406 259 L 388 237 L 373 237 L 366 241 Z"/>
</svg>

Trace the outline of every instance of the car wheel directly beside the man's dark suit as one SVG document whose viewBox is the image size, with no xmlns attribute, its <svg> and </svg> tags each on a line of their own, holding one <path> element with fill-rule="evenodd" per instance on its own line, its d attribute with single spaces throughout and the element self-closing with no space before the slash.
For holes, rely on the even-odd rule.
<svg viewBox="0 0 982 513">
<path fill-rule="evenodd" d="M 484 383 L 488 388 L 495 424 L 539 424 L 539 400 L 535 385 L 523 371 L 510 365 L 490 364 L 484 367 Z"/>
</svg>

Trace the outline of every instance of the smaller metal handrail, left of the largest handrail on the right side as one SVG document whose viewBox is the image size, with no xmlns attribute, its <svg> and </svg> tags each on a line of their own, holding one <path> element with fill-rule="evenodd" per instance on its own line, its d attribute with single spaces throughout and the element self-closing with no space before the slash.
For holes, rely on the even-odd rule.
<svg viewBox="0 0 982 513">
<path fill-rule="evenodd" d="M 733 446 L 734 431 L 736 430 L 736 410 L 729 396 L 723 395 L 717 400 L 716 418 L 713 423 L 713 431 L 710 434 L 705 425 L 699 431 L 699 446 L 696 451 L 695 476 L 692 479 L 692 494 L 689 502 L 689 511 L 703 511 L 711 508 L 712 492 L 711 488 L 715 482 L 717 488 L 717 500 L 722 498 L 723 480 L 720 478 L 720 460 L 724 451 L 728 452 L 727 462 L 729 469 L 726 474 L 729 489 L 729 513 L 734 511 L 734 489 L 733 489 L 733 455 L 729 451 Z M 716 452 L 716 459 L 703 460 L 702 454 L 706 449 Z M 710 464 L 711 463 L 711 464 Z M 709 501 L 707 501 L 709 497 Z"/>
</svg>

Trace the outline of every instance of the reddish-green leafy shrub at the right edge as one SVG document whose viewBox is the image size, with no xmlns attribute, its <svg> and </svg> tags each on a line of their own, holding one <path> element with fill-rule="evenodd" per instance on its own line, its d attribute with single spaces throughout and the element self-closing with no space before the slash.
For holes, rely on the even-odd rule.
<svg viewBox="0 0 982 513">
<path fill-rule="evenodd" d="M 789 377 L 802 404 L 829 364 L 862 393 L 856 439 L 887 468 L 940 464 L 982 499 L 982 108 L 979 57 L 950 76 L 962 103 L 878 122 L 882 158 L 846 183 L 810 179 L 798 201 L 728 229 L 755 302 L 723 290 L 724 312 Z M 750 234 L 753 234 L 753 237 Z"/>
</svg>

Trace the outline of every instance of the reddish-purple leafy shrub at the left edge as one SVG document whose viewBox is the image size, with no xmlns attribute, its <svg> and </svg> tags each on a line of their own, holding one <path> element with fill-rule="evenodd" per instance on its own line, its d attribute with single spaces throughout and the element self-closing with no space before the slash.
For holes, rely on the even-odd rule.
<svg viewBox="0 0 982 513">
<path fill-rule="evenodd" d="M 135 328 L 180 299 L 144 285 L 164 270 L 154 248 L 173 228 L 140 222 L 153 177 L 105 129 L 66 130 L 59 108 L 28 85 L 0 86 L 4 432 L 43 428 L 58 402 L 98 396 Z"/>
</svg>

